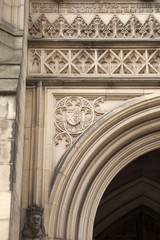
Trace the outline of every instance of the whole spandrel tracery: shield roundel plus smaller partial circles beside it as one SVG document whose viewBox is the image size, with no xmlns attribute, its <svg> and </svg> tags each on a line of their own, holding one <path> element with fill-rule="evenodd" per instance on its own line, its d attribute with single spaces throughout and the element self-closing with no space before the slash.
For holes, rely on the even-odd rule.
<svg viewBox="0 0 160 240">
<path fill-rule="evenodd" d="M 107 111 L 105 97 L 93 102 L 76 96 L 62 98 L 54 109 L 54 124 L 58 132 L 54 144 L 58 146 L 64 142 L 64 147 L 69 148 L 76 137 Z"/>
</svg>

